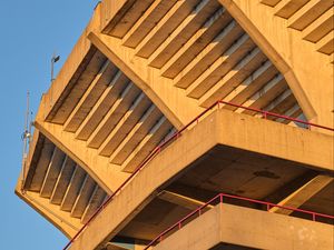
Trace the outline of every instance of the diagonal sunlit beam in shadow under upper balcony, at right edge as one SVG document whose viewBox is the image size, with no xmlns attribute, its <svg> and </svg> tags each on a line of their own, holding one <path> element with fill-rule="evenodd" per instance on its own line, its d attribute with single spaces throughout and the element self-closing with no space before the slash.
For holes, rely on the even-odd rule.
<svg viewBox="0 0 334 250">
<path fill-rule="evenodd" d="M 322 189 L 324 189 L 327 184 L 330 184 L 334 179 L 328 176 L 317 176 L 306 184 L 301 187 L 298 190 L 291 193 L 284 200 L 278 202 L 279 206 L 291 207 L 291 208 L 299 208 L 306 201 L 308 201 L 312 197 L 318 193 Z M 281 209 L 281 208 L 272 208 L 271 212 L 281 213 L 281 214 L 291 214 L 292 210 Z"/>
</svg>

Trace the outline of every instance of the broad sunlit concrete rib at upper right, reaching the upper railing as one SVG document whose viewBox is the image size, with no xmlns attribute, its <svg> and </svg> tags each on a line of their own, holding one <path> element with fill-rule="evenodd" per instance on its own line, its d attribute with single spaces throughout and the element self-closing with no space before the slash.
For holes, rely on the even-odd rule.
<svg viewBox="0 0 334 250">
<path fill-rule="evenodd" d="M 313 43 L 259 0 L 219 2 L 284 74 L 307 119 L 333 128 L 333 64 L 327 56 L 314 51 Z"/>
</svg>

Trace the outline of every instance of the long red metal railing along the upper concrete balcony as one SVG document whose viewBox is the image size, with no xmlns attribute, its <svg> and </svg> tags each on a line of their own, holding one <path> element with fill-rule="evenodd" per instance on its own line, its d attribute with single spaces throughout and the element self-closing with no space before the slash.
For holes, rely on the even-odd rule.
<svg viewBox="0 0 334 250">
<path fill-rule="evenodd" d="M 158 144 L 145 159 L 144 161 L 136 168 L 136 170 L 125 180 L 125 182 L 121 183 L 121 186 L 115 190 L 115 192 L 96 210 L 96 212 L 90 217 L 90 219 L 82 226 L 82 228 L 75 234 L 75 237 L 66 244 L 66 247 L 63 248 L 63 250 L 67 250 L 71 243 L 80 236 L 80 233 L 88 227 L 88 224 L 97 217 L 97 214 L 100 213 L 101 210 L 104 210 L 104 208 L 114 199 L 114 197 L 116 197 L 126 184 L 128 184 L 130 182 L 130 180 L 134 179 L 134 177 L 153 159 L 155 158 L 164 148 L 167 147 L 167 144 L 169 144 L 170 142 L 173 142 L 174 140 L 178 139 L 180 137 L 180 134 L 187 130 L 190 126 L 196 124 L 200 118 L 203 118 L 205 114 L 207 114 L 210 110 L 213 110 L 215 107 L 217 107 L 218 109 L 222 108 L 222 104 L 225 106 L 230 106 L 230 107 L 235 107 L 235 108 L 239 108 L 239 109 L 244 109 L 244 110 L 248 110 L 248 111 L 253 111 L 253 112 L 257 112 L 257 113 L 262 113 L 263 118 L 267 119 L 268 117 L 276 117 L 276 118 L 281 118 L 284 120 L 289 120 L 289 121 L 294 121 L 294 122 L 299 122 L 303 124 L 306 124 L 308 128 L 310 127 L 315 127 L 315 128 L 321 128 L 321 129 L 325 129 L 325 130 L 330 130 L 330 131 L 334 131 L 334 129 L 328 128 L 328 127 L 324 127 L 324 126 L 320 126 L 320 124 L 315 124 L 315 123 L 311 123 L 307 121 L 303 121 L 299 119 L 295 119 L 295 118 L 291 118 L 291 117 L 286 117 L 286 116 L 282 116 L 278 113 L 273 113 L 273 112 L 268 112 L 268 111 L 264 111 L 264 110 L 259 110 L 259 109 L 254 109 L 254 108 L 248 108 L 248 107 L 244 107 L 244 106 L 239 106 L 239 104 L 235 104 L 235 103 L 230 103 L 230 102 L 226 102 L 226 101 L 217 101 L 215 103 L 213 103 L 209 108 L 207 108 L 206 110 L 204 110 L 202 113 L 199 113 L 196 118 L 194 118 L 188 124 L 186 124 L 183 129 L 180 129 L 179 131 L 175 132 L 170 138 L 168 138 L 167 140 L 163 141 L 160 144 Z"/>
</svg>

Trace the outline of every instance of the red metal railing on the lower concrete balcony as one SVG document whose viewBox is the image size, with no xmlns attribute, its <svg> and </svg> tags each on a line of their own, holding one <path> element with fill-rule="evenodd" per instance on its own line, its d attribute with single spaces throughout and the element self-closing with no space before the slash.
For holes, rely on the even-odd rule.
<svg viewBox="0 0 334 250">
<path fill-rule="evenodd" d="M 227 194 L 227 193 L 219 193 L 216 197 L 214 197 L 213 199 L 210 199 L 208 202 L 206 202 L 205 204 L 200 206 L 199 208 L 197 208 L 196 210 L 194 210 L 193 212 L 190 212 L 189 214 L 187 214 L 186 217 L 184 217 L 183 219 L 180 219 L 179 221 L 177 221 L 175 224 L 173 224 L 171 227 L 167 228 L 165 231 L 163 231 L 160 234 L 158 234 L 148 246 L 146 246 L 146 248 L 144 250 L 149 249 L 150 247 L 154 247 L 155 244 L 157 244 L 158 242 L 163 241 L 164 237 L 173 231 L 173 230 L 178 230 L 183 227 L 183 224 L 190 219 L 191 217 L 198 214 L 202 216 L 203 214 L 203 210 L 208 207 L 209 204 L 212 204 L 214 201 L 219 201 L 219 203 L 224 203 L 224 198 L 229 198 L 229 199 L 236 199 L 236 200 L 242 200 L 242 201 L 248 201 L 252 203 L 256 203 L 256 204 L 263 204 L 266 206 L 267 211 L 269 211 L 269 209 L 272 208 L 279 208 L 279 209 L 286 209 L 286 210 L 291 210 L 294 212 L 301 212 L 304 214 L 310 214 L 312 216 L 312 220 L 315 221 L 316 217 L 318 218 L 327 218 L 327 219 L 332 219 L 334 220 L 333 216 L 328 216 L 328 214 L 323 214 L 323 213 L 318 213 L 318 212 L 313 212 L 313 211 L 307 211 L 304 209 L 297 209 L 297 208 L 291 208 L 291 207 L 284 207 L 284 206 L 279 206 L 279 204 L 275 204 L 272 202 L 266 202 L 266 201 L 261 201 L 261 200 L 254 200 L 254 199 L 249 199 L 249 198 L 245 198 L 245 197 L 238 197 L 238 196 L 233 196 L 233 194 Z"/>
</svg>

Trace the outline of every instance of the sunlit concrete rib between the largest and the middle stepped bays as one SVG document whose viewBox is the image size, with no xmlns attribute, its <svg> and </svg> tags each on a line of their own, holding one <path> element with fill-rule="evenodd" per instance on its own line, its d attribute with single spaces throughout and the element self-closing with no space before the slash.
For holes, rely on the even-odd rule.
<svg viewBox="0 0 334 250">
<path fill-rule="evenodd" d="M 161 77 L 159 70 L 147 67 L 146 59 L 136 57 L 132 49 L 121 46 L 120 39 L 97 32 L 91 32 L 88 38 L 148 96 L 177 129 L 203 111 L 196 100 L 185 98 L 183 90 L 175 88 L 170 79 Z"/>
</svg>

